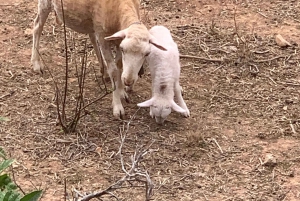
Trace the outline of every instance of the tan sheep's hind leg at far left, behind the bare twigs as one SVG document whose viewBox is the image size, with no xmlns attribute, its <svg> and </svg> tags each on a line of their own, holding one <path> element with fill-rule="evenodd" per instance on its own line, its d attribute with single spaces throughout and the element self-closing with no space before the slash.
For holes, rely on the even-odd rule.
<svg viewBox="0 0 300 201">
<path fill-rule="evenodd" d="M 35 72 L 43 72 L 43 65 L 39 55 L 40 37 L 43 31 L 44 24 L 51 12 L 51 0 L 39 0 L 38 13 L 34 20 L 33 27 L 33 45 L 31 53 L 31 63 Z"/>
</svg>

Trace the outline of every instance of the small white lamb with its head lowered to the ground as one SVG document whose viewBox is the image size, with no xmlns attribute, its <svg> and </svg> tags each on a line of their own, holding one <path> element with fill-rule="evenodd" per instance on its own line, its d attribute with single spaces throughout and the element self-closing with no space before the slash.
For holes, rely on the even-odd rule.
<svg viewBox="0 0 300 201">
<path fill-rule="evenodd" d="M 149 32 L 167 51 L 151 47 L 151 53 L 146 60 L 152 79 L 152 98 L 137 105 L 150 107 L 150 116 L 155 117 L 158 124 L 165 121 L 171 109 L 189 117 L 190 111 L 182 98 L 182 88 L 179 84 L 180 62 L 177 44 L 173 41 L 170 31 L 164 26 L 154 26 Z M 174 96 L 179 105 L 175 103 Z"/>
</svg>

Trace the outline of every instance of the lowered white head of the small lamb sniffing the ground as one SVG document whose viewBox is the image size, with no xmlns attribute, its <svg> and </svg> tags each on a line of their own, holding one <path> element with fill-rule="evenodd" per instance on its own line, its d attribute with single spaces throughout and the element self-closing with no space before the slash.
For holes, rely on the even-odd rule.
<svg viewBox="0 0 300 201">
<path fill-rule="evenodd" d="M 166 100 L 164 98 L 152 97 L 150 100 L 137 104 L 139 107 L 150 107 L 150 116 L 155 117 L 156 123 L 163 124 L 166 118 L 171 113 L 172 109 L 179 113 L 185 113 L 185 109 L 172 100 Z"/>
</svg>

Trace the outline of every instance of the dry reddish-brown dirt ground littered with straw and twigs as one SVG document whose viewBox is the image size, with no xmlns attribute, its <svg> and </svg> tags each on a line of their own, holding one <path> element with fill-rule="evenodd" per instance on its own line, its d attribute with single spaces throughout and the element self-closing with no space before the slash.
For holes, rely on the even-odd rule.
<svg viewBox="0 0 300 201">
<path fill-rule="evenodd" d="M 142 1 L 142 21 L 167 26 L 181 54 L 222 61 L 181 59 L 190 118 L 172 113 L 158 126 L 148 109 L 138 110 L 136 103 L 150 96 L 146 70 L 131 103 L 124 103 L 124 121 L 113 119 L 108 95 L 86 108 L 71 134 L 57 124 L 49 71 L 41 76 L 31 69 L 37 1 L 0 0 L 0 8 L 0 145 L 17 160 L 14 176 L 26 192 L 40 188 L 42 200 L 64 200 L 64 181 L 71 199 L 74 188 L 91 192 L 120 179 L 119 133 L 131 119 L 124 158 L 130 162 L 138 145 L 154 140 L 153 152 L 141 163 L 155 185 L 153 200 L 300 200 L 299 1 Z M 291 46 L 279 47 L 277 33 Z M 68 108 L 74 108 L 74 66 L 87 36 L 70 30 L 67 36 Z M 54 78 L 62 82 L 63 29 L 53 14 L 41 47 Z M 86 103 L 103 94 L 89 42 L 88 51 Z M 115 195 L 144 200 L 143 186 L 134 185 Z"/>
</svg>

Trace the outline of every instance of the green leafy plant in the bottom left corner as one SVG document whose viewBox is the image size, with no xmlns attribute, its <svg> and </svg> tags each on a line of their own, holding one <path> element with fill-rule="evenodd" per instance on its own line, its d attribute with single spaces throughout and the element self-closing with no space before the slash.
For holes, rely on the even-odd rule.
<svg viewBox="0 0 300 201">
<path fill-rule="evenodd" d="M 4 171 L 14 162 L 7 159 L 4 150 L 0 147 L 0 200 L 1 201 L 37 201 L 42 191 L 34 191 L 26 195 L 19 192 L 18 186 L 12 181 L 10 176 Z"/>
</svg>

